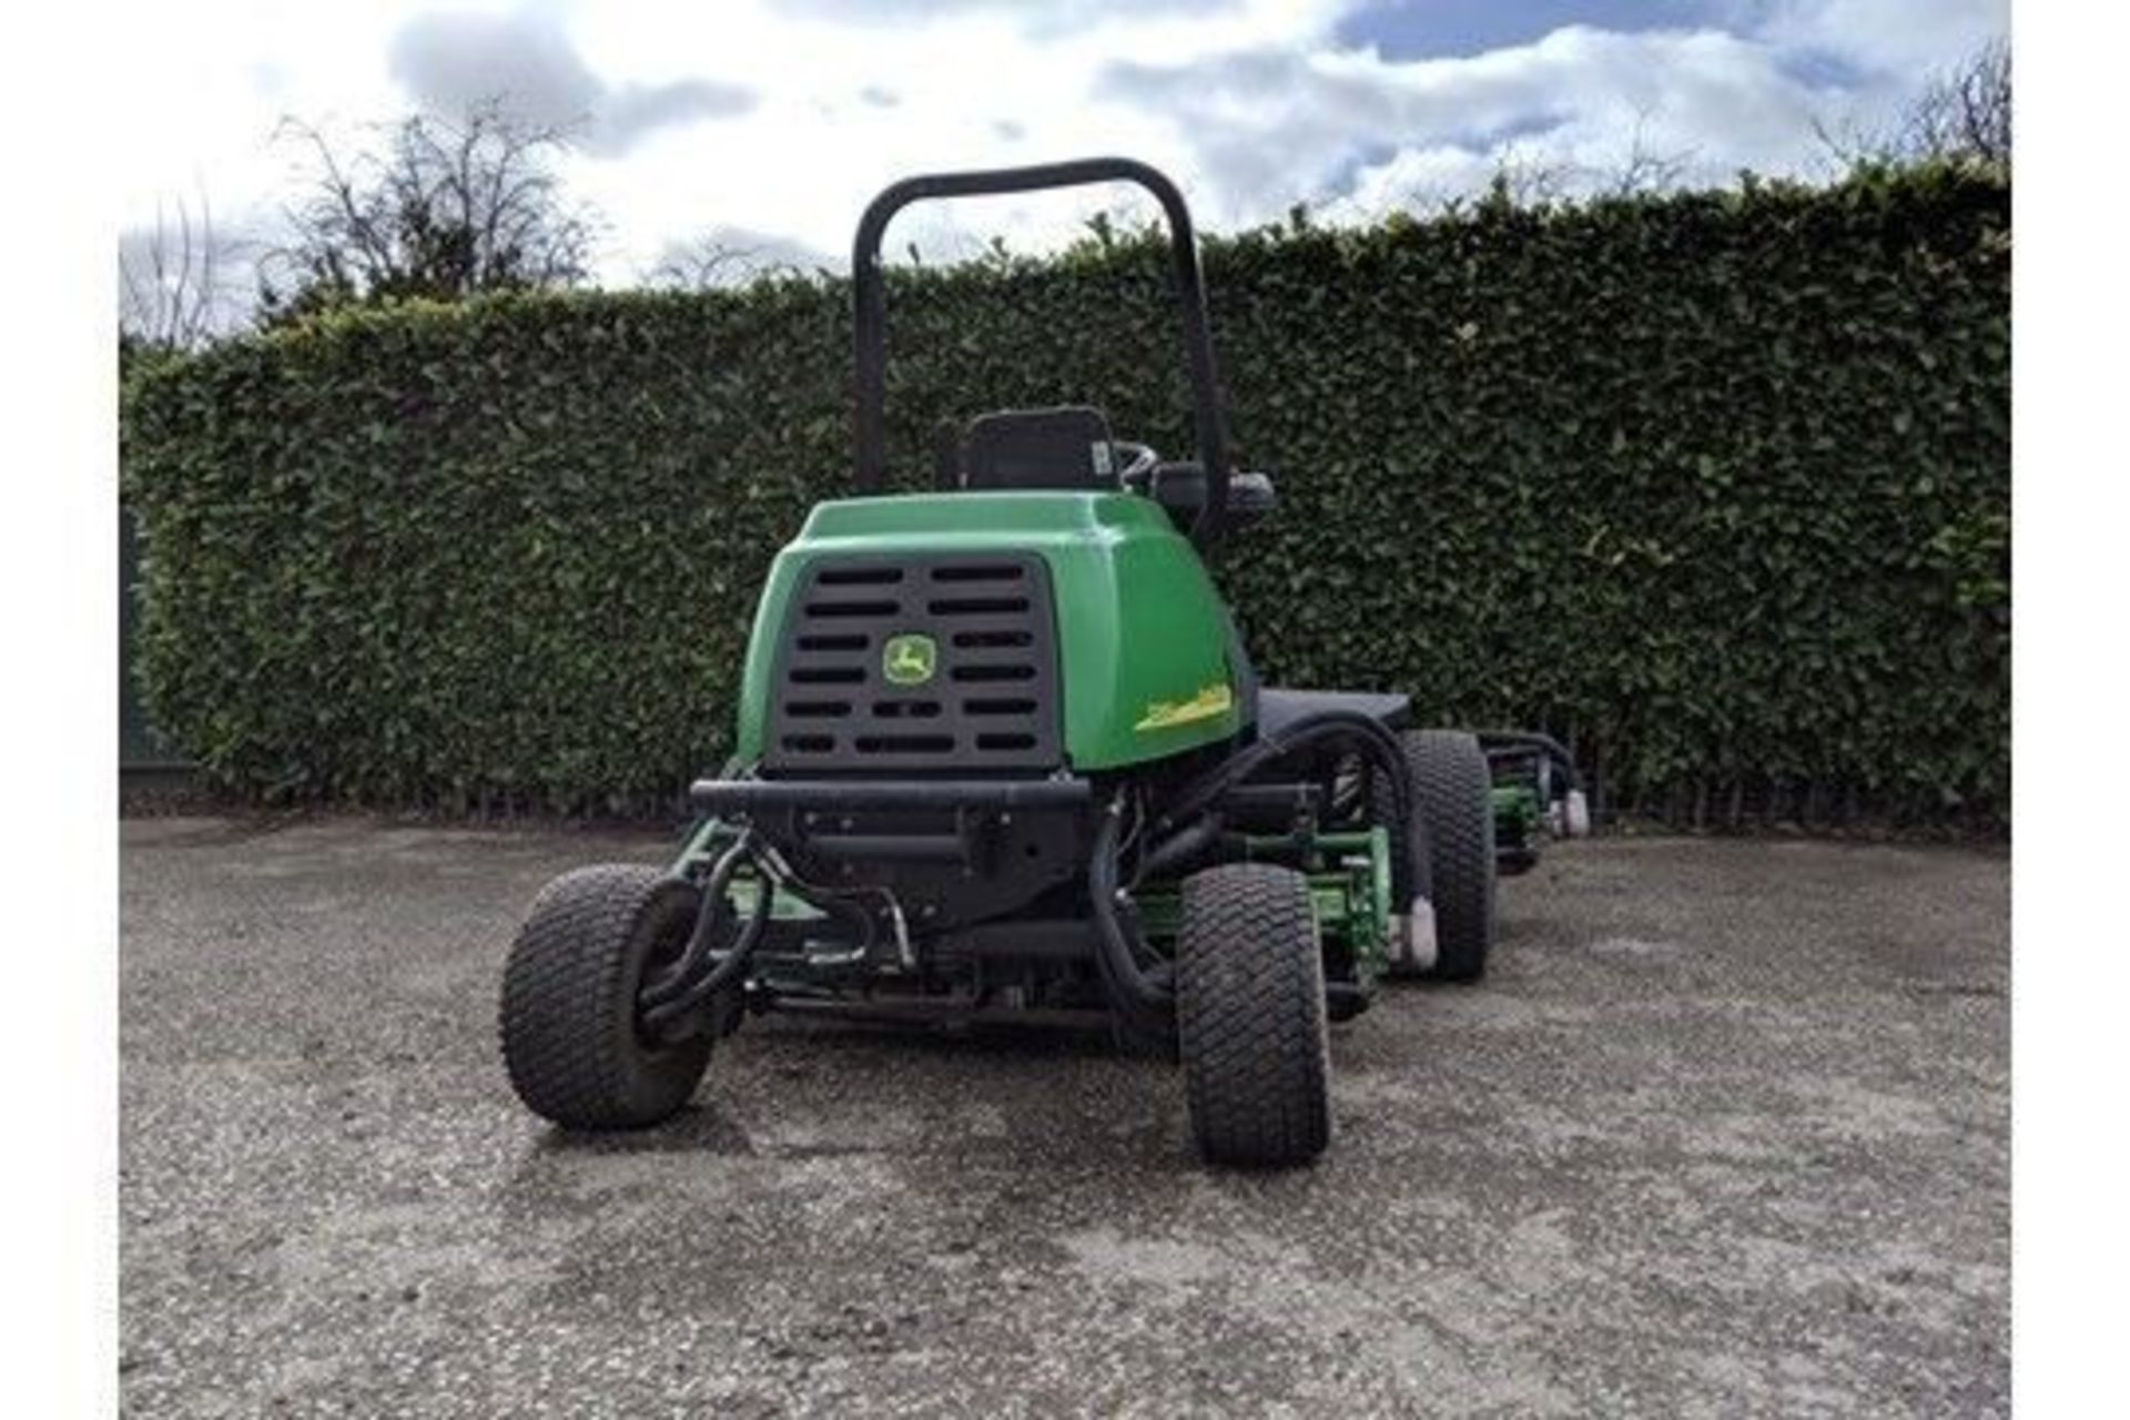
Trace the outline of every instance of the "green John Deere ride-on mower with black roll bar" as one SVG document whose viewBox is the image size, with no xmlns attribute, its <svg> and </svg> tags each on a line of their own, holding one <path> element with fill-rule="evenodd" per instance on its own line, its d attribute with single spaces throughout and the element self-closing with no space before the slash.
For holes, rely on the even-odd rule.
<svg viewBox="0 0 2130 1420">
<path fill-rule="evenodd" d="M 888 494 L 880 238 L 905 204 L 1131 181 L 1167 215 L 1197 458 L 1091 407 L 941 441 Z M 665 871 L 532 903 L 503 977 L 518 1096 L 564 1128 L 682 1109 L 760 1011 L 1108 1026 L 1182 1064 L 1199 1152 L 1331 1135 L 1327 1022 L 1384 975 L 1472 981 L 1495 873 L 1583 830 L 1553 741 L 1412 726 L 1402 694 L 1259 686 L 1203 556 L 1274 507 L 1229 466 L 1197 243 L 1154 168 L 914 177 L 852 253 L 856 490 L 775 558 L 737 754 Z"/>
</svg>

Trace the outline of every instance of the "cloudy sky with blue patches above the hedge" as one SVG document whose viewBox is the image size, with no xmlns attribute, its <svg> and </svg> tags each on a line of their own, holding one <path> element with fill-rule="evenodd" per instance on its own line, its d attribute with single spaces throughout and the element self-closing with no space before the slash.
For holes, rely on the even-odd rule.
<svg viewBox="0 0 2130 1420">
<path fill-rule="evenodd" d="M 575 126 L 569 192 L 628 283 L 703 236 L 841 264 L 892 177 L 1093 151 L 1167 168 L 1214 230 L 1431 204 L 1504 160 L 1595 181 L 1638 145 L 1685 181 L 1815 175 L 1815 121 L 1883 121 L 2004 28 L 2006 0 L 164 4 L 128 36 L 117 177 L 128 228 L 204 198 L 268 234 L 283 115 L 360 136 L 501 98 Z M 1042 249 L 1103 204 L 1125 198 L 954 204 L 890 245 Z"/>
</svg>

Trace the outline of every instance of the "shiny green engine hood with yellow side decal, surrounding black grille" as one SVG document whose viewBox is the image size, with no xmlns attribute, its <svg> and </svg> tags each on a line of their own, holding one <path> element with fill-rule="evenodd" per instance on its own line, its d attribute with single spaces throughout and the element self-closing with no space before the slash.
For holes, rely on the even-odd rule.
<svg viewBox="0 0 2130 1420">
<path fill-rule="evenodd" d="M 777 554 L 739 690 L 741 762 L 763 720 L 784 615 L 820 556 L 1031 551 L 1050 568 L 1065 754 L 1088 773 L 1159 760 L 1242 728 L 1227 611 L 1191 543 L 1137 494 L 963 492 L 822 502 Z"/>
</svg>

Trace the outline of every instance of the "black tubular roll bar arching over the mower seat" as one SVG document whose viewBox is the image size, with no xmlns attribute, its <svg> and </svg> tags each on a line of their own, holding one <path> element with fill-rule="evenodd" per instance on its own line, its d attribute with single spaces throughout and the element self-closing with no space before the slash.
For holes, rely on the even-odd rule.
<svg viewBox="0 0 2130 1420">
<path fill-rule="evenodd" d="M 1199 275 L 1197 236 L 1191 228 L 1191 209 L 1184 207 L 1184 194 L 1176 189 L 1176 183 L 1133 158 L 1078 158 L 1029 168 L 927 172 L 884 187 L 867 204 L 858 219 L 858 236 L 850 247 L 861 494 L 882 490 L 888 477 L 888 294 L 880 270 L 880 238 L 888 230 L 888 219 L 912 202 L 933 198 L 973 198 L 1046 187 L 1084 187 L 1088 183 L 1137 183 L 1154 194 L 1163 215 L 1167 215 L 1176 300 L 1184 317 L 1184 360 L 1191 366 L 1191 417 L 1197 428 L 1199 464 L 1206 468 L 1206 505 L 1191 524 L 1191 541 L 1210 547 L 1220 539 L 1229 479 L 1227 422 L 1220 413 L 1220 375 L 1212 356 L 1212 321 L 1206 317 L 1206 279 Z"/>
</svg>

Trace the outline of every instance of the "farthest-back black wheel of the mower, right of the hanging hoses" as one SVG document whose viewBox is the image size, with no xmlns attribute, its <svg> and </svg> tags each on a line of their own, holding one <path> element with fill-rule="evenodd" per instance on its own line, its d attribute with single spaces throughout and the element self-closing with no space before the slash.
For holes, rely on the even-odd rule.
<svg viewBox="0 0 2130 1420">
<path fill-rule="evenodd" d="M 1393 960 L 1391 973 L 1442 981 L 1487 975 L 1493 947 L 1493 775 L 1487 752 L 1461 730 L 1406 730 L 1397 737 L 1412 771 L 1433 877 L 1433 962 Z M 1391 892 L 1399 909 L 1412 903 L 1406 843 L 1410 828 L 1391 824 Z"/>
</svg>

